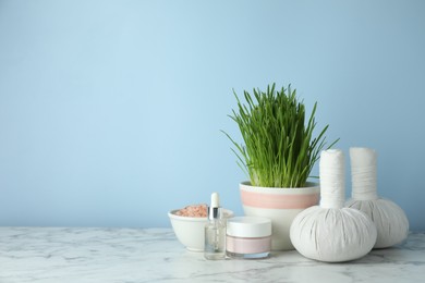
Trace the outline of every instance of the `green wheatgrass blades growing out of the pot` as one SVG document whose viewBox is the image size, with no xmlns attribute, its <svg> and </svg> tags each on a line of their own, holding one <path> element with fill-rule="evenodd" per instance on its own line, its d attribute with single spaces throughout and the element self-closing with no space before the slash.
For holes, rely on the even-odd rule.
<svg viewBox="0 0 425 283">
<path fill-rule="evenodd" d="M 296 89 L 289 85 L 279 91 L 275 85 L 267 86 L 265 93 L 253 89 L 251 95 L 245 90 L 245 103 L 233 90 L 238 111 L 232 110 L 229 116 L 238 123 L 245 145 L 223 133 L 235 146 L 232 150 L 238 164 L 250 175 L 253 186 L 303 187 L 326 145 L 329 125 L 313 137 L 317 102 L 305 123 L 305 106 L 298 100 Z"/>
</svg>

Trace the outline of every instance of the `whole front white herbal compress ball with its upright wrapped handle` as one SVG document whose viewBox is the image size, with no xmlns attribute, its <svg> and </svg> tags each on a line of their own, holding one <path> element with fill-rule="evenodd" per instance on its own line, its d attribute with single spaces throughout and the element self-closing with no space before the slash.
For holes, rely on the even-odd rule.
<svg viewBox="0 0 425 283">
<path fill-rule="evenodd" d="M 376 227 L 363 212 L 343 208 L 344 158 L 341 150 L 321 151 L 320 206 L 293 220 L 291 242 L 304 257 L 339 262 L 361 258 L 376 241 Z"/>
</svg>

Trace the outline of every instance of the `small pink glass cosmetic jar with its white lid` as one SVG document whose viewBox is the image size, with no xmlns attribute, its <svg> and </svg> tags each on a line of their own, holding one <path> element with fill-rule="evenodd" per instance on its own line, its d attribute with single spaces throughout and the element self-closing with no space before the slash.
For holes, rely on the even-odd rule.
<svg viewBox="0 0 425 283">
<path fill-rule="evenodd" d="M 228 219 L 226 255 L 231 258 L 266 258 L 271 249 L 271 221 L 267 218 Z"/>
</svg>

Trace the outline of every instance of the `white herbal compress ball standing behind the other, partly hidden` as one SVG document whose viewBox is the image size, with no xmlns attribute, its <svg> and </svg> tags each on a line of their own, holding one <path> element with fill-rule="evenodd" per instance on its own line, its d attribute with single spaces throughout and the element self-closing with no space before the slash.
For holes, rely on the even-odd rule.
<svg viewBox="0 0 425 283">
<path fill-rule="evenodd" d="M 350 148 L 352 198 L 345 207 L 359 209 L 375 223 L 375 248 L 393 246 L 406 238 L 409 220 L 394 202 L 377 195 L 376 152 L 369 148 Z"/>
</svg>

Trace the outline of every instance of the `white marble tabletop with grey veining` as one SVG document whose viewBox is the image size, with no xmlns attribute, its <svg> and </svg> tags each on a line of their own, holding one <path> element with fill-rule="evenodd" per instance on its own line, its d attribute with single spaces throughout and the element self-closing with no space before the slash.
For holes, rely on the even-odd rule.
<svg viewBox="0 0 425 283">
<path fill-rule="evenodd" d="M 348 263 L 205 260 L 170 229 L 0 227 L 0 282 L 425 282 L 425 233 Z"/>
</svg>

